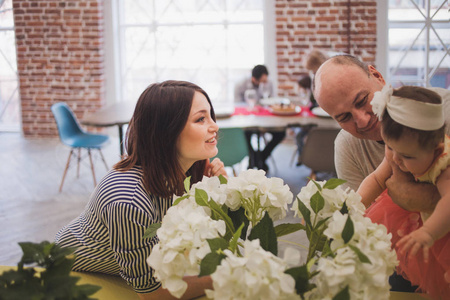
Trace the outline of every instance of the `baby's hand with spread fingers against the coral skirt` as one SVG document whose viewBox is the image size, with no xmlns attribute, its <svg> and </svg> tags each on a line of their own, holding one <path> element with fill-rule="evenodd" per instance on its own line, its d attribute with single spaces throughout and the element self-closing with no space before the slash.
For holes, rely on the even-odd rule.
<svg viewBox="0 0 450 300">
<path fill-rule="evenodd" d="M 408 258 L 412 259 L 416 255 L 417 251 L 423 249 L 423 258 L 425 262 L 428 262 L 428 252 L 431 246 L 433 246 L 433 237 L 423 228 L 419 228 L 416 231 L 411 232 L 407 236 L 404 236 L 397 242 L 400 254 L 405 255 L 409 250 Z"/>
</svg>

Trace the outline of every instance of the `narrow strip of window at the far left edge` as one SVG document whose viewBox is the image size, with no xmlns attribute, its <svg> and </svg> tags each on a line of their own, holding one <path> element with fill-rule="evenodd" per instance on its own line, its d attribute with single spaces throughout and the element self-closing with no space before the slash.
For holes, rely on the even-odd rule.
<svg viewBox="0 0 450 300">
<path fill-rule="evenodd" d="M 20 130 L 12 0 L 0 0 L 0 131 Z"/>
</svg>

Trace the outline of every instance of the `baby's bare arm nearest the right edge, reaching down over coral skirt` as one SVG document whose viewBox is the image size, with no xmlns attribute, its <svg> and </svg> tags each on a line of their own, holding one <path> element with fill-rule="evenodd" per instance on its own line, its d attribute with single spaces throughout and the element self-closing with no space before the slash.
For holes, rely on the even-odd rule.
<svg viewBox="0 0 450 300">
<path fill-rule="evenodd" d="M 411 249 L 410 257 L 423 248 L 425 261 L 428 261 L 428 249 L 450 230 L 450 168 L 438 177 L 436 187 L 441 194 L 441 199 L 431 216 L 421 228 L 403 237 L 397 243 L 401 253 Z"/>
</svg>

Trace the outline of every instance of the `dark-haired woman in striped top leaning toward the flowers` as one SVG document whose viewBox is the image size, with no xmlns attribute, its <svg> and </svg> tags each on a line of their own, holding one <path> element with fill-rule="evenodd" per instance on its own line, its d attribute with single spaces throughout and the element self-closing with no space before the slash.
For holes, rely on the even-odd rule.
<svg viewBox="0 0 450 300">
<path fill-rule="evenodd" d="M 63 247 L 75 247 L 74 271 L 120 275 L 140 299 L 171 299 L 153 277 L 146 259 L 158 238 L 142 236 L 160 222 L 191 184 L 203 175 L 226 176 L 216 158 L 214 109 L 204 90 L 183 81 L 155 83 L 139 97 L 127 135 L 127 156 L 95 188 L 89 203 L 56 235 Z M 212 288 L 211 279 L 186 277 L 183 299 Z"/>
</svg>

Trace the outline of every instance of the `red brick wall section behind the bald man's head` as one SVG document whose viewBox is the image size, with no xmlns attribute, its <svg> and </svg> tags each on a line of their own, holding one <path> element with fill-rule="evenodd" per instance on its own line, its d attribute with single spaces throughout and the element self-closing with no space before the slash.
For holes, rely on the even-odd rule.
<svg viewBox="0 0 450 300">
<path fill-rule="evenodd" d="M 303 59 L 312 49 L 374 63 L 376 13 L 376 1 L 275 0 L 278 94 L 297 96 L 300 73 L 307 71 Z"/>
</svg>

